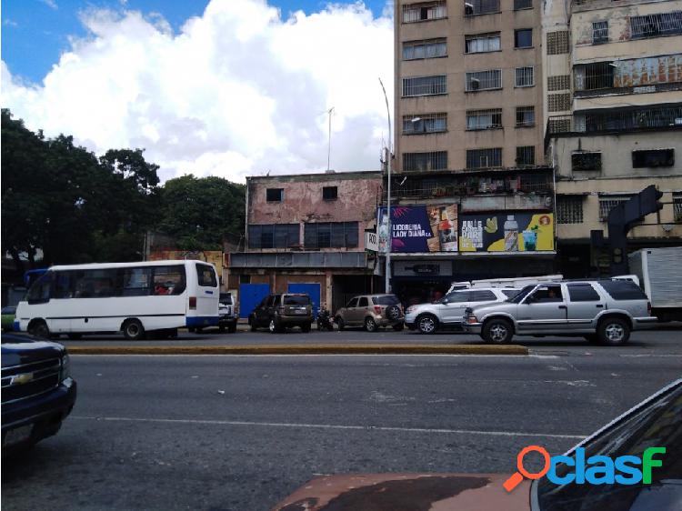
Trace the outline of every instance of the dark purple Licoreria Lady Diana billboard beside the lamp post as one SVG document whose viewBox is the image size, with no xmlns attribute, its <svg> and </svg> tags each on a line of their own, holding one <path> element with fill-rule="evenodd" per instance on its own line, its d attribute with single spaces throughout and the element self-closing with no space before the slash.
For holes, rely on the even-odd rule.
<svg viewBox="0 0 682 511">
<path fill-rule="evenodd" d="M 386 252 L 386 207 L 377 217 L 379 252 Z M 457 251 L 457 205 L 397 205 L 391 207 L 391 251 L 426 253 Z"/>
</svg>

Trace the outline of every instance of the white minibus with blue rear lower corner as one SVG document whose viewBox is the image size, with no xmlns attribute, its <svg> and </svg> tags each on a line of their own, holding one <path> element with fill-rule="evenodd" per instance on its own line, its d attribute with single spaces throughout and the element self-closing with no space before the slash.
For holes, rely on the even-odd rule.
<svg viewBox="0 0 682 511">
<path fill-rule="evenodd" d="M 203 261 L 52 266 L 16 306 L 15 330 L 35 336 L 123 331 L 176 336 L 218 324 L 216 269 Z"/>
</svg>

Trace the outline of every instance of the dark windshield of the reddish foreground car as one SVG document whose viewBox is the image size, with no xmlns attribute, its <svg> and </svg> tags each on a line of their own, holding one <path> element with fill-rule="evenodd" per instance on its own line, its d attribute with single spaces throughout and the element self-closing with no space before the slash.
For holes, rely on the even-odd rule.
<svg viewBox="0 0 682 511">
<path fill-rule="evenodd" d="M 650 485 L 557 486 L 543 477 L 537 485 L 541 511 L 679 509 L 682 503 L 682 383 L 583 447 L 585 459 L 590 456 L 616 459 L 624 455 L 641 457 L 652 446 L 667 450 L 662 455 L 663 466 L 652 471 Z M 557 476 L 565 476 L 568 470 L 575 468 L 557 466 Z"/>
</svg>

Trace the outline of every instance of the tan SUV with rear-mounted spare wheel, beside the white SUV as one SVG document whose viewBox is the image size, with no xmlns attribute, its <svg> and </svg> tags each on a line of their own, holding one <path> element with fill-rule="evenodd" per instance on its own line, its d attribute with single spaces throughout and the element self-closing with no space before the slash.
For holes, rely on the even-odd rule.
<svg viewBox="0 0 682 511">
<path fill-rule="evenodd" d="M 364 326 L 367 332 L 386 326 L 400 331 L 405 326 L 404 320 L 403 306 L 396 295 L 356 296 L 334 316 L 339 330 L 346 326 Z"/>
</svg>

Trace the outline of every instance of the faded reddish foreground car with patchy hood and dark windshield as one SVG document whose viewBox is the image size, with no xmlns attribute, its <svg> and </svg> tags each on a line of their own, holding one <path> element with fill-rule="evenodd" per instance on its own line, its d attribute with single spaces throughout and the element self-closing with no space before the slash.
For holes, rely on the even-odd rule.
<svg viewBox="0 0 682 511">
<path fill-rule="evenodd" d="M 572 458 L 571 464 L 558 463 L 554 469 L 556 474 L 570 477 L 577 473 L 578 457 L 583 460 L 584 472 L 586 460 L 591 463 L 592 456 L 598 456 L 599 461 L 594 463 L 599 464 L 597 470 L 601 476 L 603 466 L 607 466 L 605 458 L 617 460 L 620 456 L 629 456 L 630 460 L 633 457 L 642 460 L 648 448 L 665 447 L 666 454 L 658 454 L 656 460 L 663 463 L 652 464 L 654 468 L 650 470 L 651 479 L 647 484 L 581 484 L 574 477 L 559 485 L 546 475 L 532 482 L 524 479 L 513 491 L 507 492 L 503 485 L 509 474 L 343 474 L 316 477 L 273 509 L 394 509 L 399 502 L 415 503 L 415 509 L 437 507 L 442 511 L 678 511 L 682 502 L 678 461 L 682 449 L 680 431 L 682 379 L 588 436 L 566 453 L 565 456 Z M 538 438 L 537 446 L 542 445 Z M 516 462 L 517 456 L 513 456 L 509 466 L 516 466 Z M 637 472 L 640 468 L 633 464 L 633 472 L 626 472 L 630 466 L 618 468 L 617 461 L 615 466 L 612 470 L 623 470 L 626 478 L 630 478 L 629 474 L 641 477 L 644 470 L 642 466 L 642 472 Z"/>
</svg>

